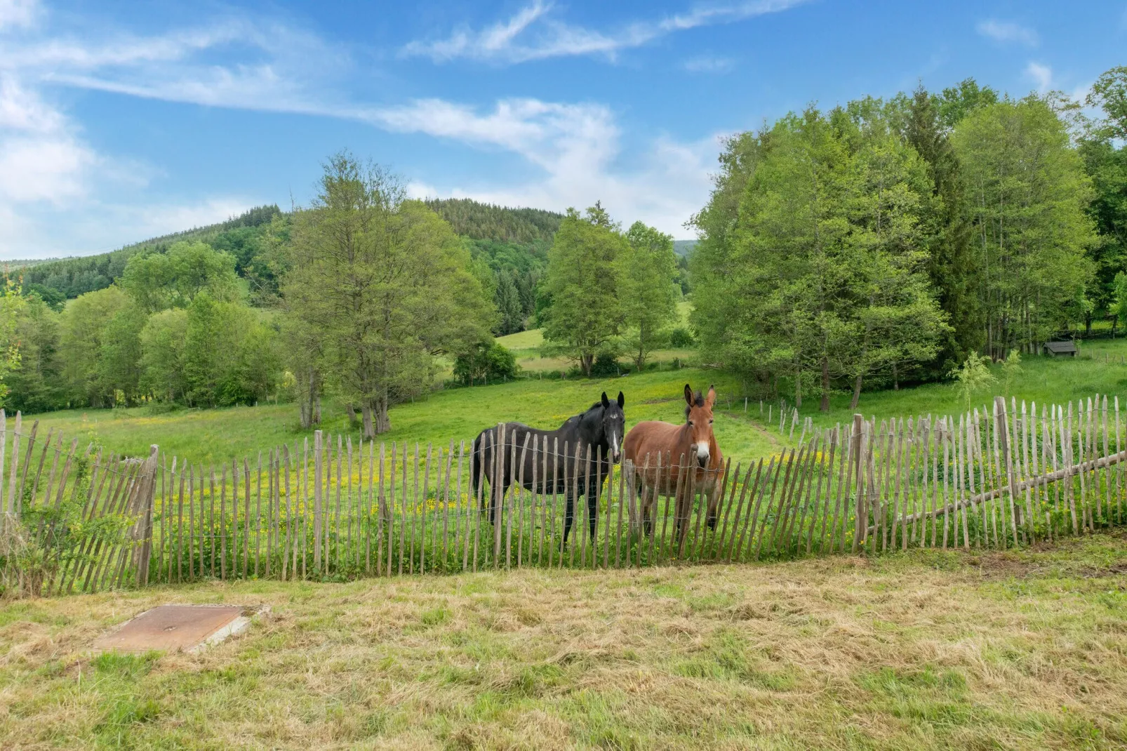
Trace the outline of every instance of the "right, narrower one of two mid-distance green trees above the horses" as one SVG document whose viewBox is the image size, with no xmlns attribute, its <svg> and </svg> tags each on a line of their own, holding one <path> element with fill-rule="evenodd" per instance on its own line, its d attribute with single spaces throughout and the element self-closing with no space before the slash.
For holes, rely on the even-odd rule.
<svg viewBox="0 0 1127 751">
<path fill-rule="evenodd" d="M 635 222 L 625 238 L 616 260 L 618 294 L 627 343 L 640 371 L 677 315 L 677 259 L 673 238 L 653 227 Z"/>
</svg>

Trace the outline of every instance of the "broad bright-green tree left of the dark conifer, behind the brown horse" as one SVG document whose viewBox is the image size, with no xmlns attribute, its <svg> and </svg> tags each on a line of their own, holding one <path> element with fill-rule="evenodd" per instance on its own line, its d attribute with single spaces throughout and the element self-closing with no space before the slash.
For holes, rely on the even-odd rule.
<svg viewBox="0 0 1127 751">
<path fill-rule="evenodd" d="M 880 104 L 788 115 L 755 140 L 736 222 L 694 256 L 706 348 L 788 377 L 796 404 L 818 383 L 823 409 L 835 378 L 855 399 L 867 376 L 932 357 L 944 324 L 919 240 L 924 171 Z"/>
</svg>

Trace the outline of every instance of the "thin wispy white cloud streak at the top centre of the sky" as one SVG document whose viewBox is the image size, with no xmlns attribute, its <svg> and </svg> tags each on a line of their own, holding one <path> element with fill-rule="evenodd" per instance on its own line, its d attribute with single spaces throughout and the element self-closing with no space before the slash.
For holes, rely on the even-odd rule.
<svg viewBox="0 0 1127 751">
<path fill-rule="evenodd" d="M 730 24 L 787 10 L 802 2 L 805 0 L 746 0 L 699 5 L 683 14 L 656 20 L 639 20 L 614 30 L 600 32 L 554 18 L 550 3 L 535 0 L 507 20 L 479 30 L 455 29 L 444 38 L 414 41 L 405 45 L 400 54 L 429 58 L 436 63 L 458 58 L 521 63 L 574 55 L 602 55 L 614 60 L 622 50 L 640 47 L 675 32 Z"/>
</svg>

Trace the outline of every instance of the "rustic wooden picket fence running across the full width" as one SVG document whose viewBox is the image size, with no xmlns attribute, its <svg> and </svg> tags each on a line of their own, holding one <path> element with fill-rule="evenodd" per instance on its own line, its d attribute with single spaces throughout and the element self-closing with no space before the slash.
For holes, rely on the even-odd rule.
<svg viewBox="0 0 1127 751">
<path fill-rule="evenodd" d="M 505 449 L 485 457 L 491 475 L 471 461 L 467 441 L 353 444 L 318 432 L 202 467 L 156 445 L 148 457 L 119 457 L 37 428 L 17 415 L 0 433 L 5 585 L 35 594 L 201 578 L 1005 549 L 1120 523 L 1127 458 L 1118 398 L 1099 396 L 1040 407 L 997 397 L 957 417 L 857 415 L 711 475 L 669 471 L 695 467 L 692 456 L 650 456 L 645 466 L 612 466 L 601 485 L 586 481 L 606 461 L 597 450 L 535 436 L 522 445 L 496 436 Z M 473 483 L 474 466 L 485 477 L 516 468 L 516 481 Z M 656 497 L 637 491 L 642 471 L 658 478 Z M 544 477 L 564 481 L 545 486 Z M 712 481 L 720 489 L 708 509 L 698 486 Z M 593 519 L 584 488 L 596 496 Z"/>
</svg>

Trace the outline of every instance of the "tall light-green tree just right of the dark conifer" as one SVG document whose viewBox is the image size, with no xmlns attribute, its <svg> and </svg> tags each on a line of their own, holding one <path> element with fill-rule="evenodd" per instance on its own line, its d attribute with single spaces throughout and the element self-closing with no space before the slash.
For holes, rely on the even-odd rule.
<svg viewBox="0 0 1127 751">
<path fill-rule="evenodd" d="M 1095 240 L 1090 180 L 1066 124 L 1037 96 L 967 115 L 952 135 L 964 167 L 992 359 L 1041 343 L 1083 315 Z"/>
</svg>

